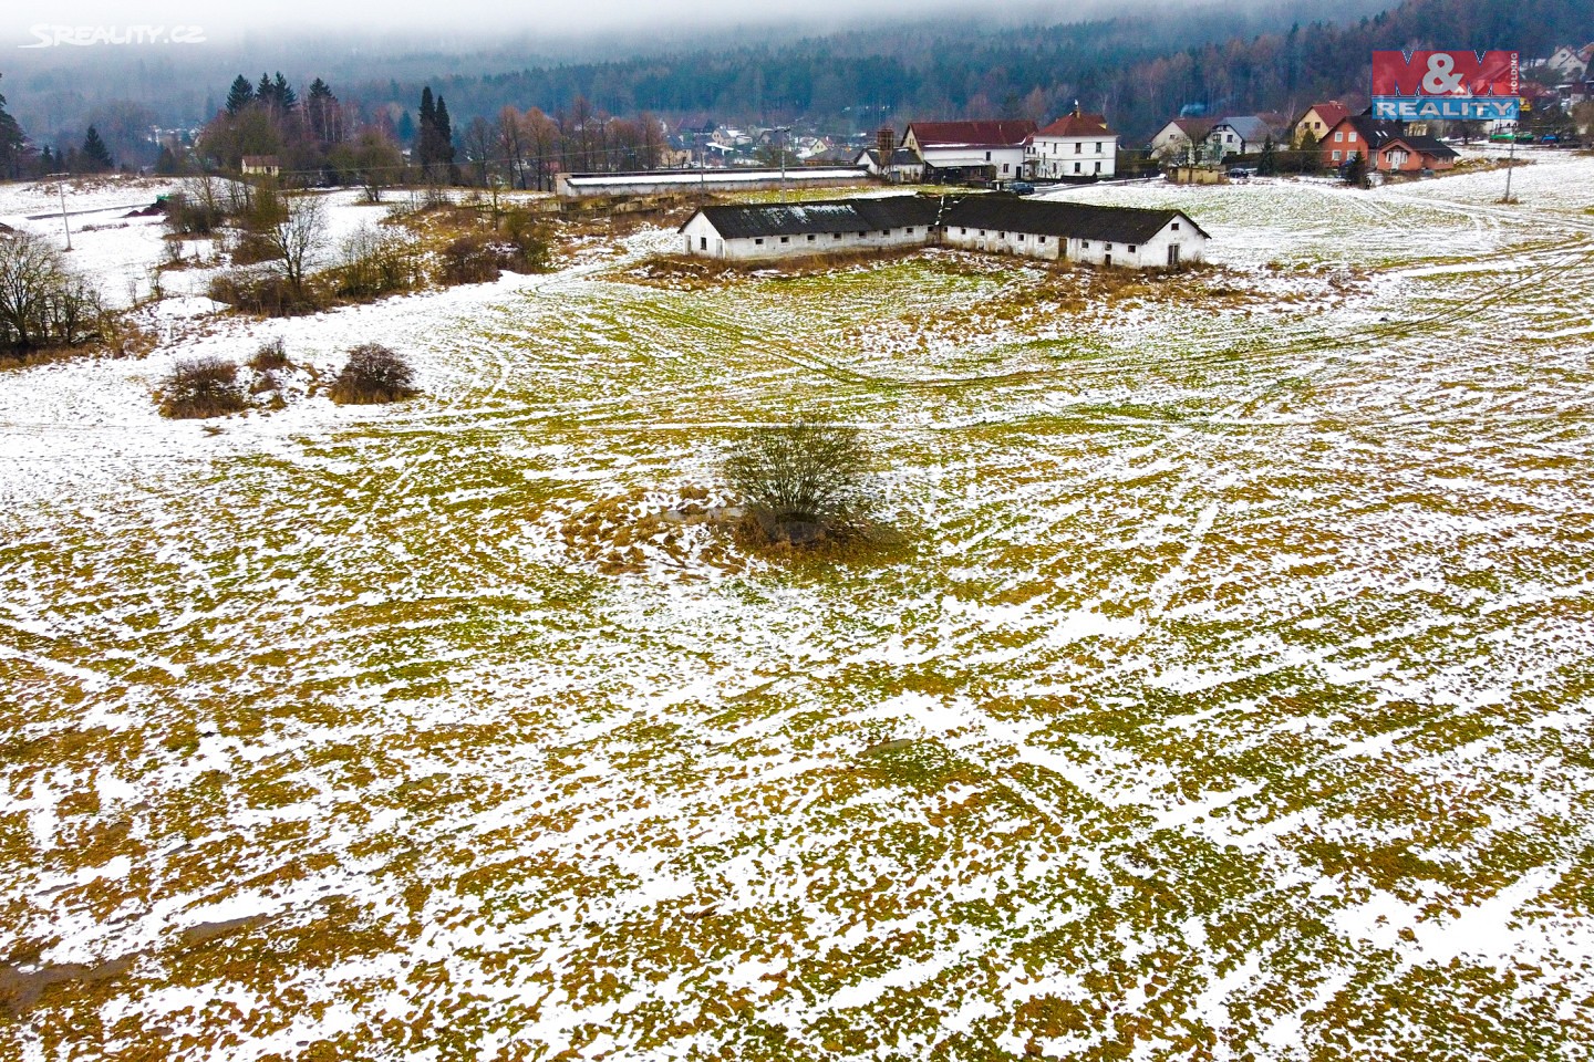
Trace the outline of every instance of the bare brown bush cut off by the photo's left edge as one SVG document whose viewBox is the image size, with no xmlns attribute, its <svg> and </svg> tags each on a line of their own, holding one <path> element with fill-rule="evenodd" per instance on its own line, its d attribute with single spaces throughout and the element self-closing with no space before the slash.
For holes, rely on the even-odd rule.
<svg viewBox="0 0 1594 1062">
<path fill-rule="evenodd" d="M 33 232 L 0 236 L 0 347 L 72 347 L 104 333 L 99 293 Z"/>
</svg>

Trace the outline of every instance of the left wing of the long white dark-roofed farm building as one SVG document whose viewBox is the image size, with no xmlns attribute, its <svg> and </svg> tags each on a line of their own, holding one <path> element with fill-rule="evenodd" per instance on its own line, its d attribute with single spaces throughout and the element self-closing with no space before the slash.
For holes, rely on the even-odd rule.
<svg viewBox="0 0 1594 1062">
<path fill-rule="evenodd" d="M 929 242 L 939 212 L 921 196 L 703 207 L 681 236 L 689 255 L 733 261 L 886 250 Z"/>
</svg>

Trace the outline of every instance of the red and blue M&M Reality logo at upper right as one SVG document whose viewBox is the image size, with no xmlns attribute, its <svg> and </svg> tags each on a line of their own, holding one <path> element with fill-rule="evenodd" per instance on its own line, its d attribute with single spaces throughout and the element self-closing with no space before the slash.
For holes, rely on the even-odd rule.
<svg viewBox="0 0 1594 1062">
<path fill-rule="evenodd" d="M 1372 116 L 1514 119 L 1517 72 L 1514 51 L 1376 51 Z"/>
</svg>

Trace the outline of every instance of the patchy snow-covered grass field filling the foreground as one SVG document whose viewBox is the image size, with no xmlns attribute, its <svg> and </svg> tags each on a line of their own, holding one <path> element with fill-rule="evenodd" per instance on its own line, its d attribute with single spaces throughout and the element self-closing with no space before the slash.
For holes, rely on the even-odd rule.
<svg viewBox="0 0 1594 1062">
<path fill-rule="evenodd" d="M 1594 159 L 1502 185 L 1084 193 L 1232 298 L 644 231 L 0 373 L 0 1059 L 1588 1057 Z M 268 338 L 426 396 L 155 416 Z M 909 556 L 582 551 L 794 409 Z"/>
</svg>

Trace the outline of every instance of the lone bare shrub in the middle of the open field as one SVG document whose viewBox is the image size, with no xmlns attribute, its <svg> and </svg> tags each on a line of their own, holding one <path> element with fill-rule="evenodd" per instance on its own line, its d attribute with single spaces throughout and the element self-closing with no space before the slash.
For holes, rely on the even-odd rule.
<svg viewBox="0 0 1594 1062">
<path fill-rule="evenodd" d="M 869 465 L 856 428 L 799 422 L 749 431 L 725 478 L 768 541 L 803 546 L 862 529 Z"/>
</svg>

